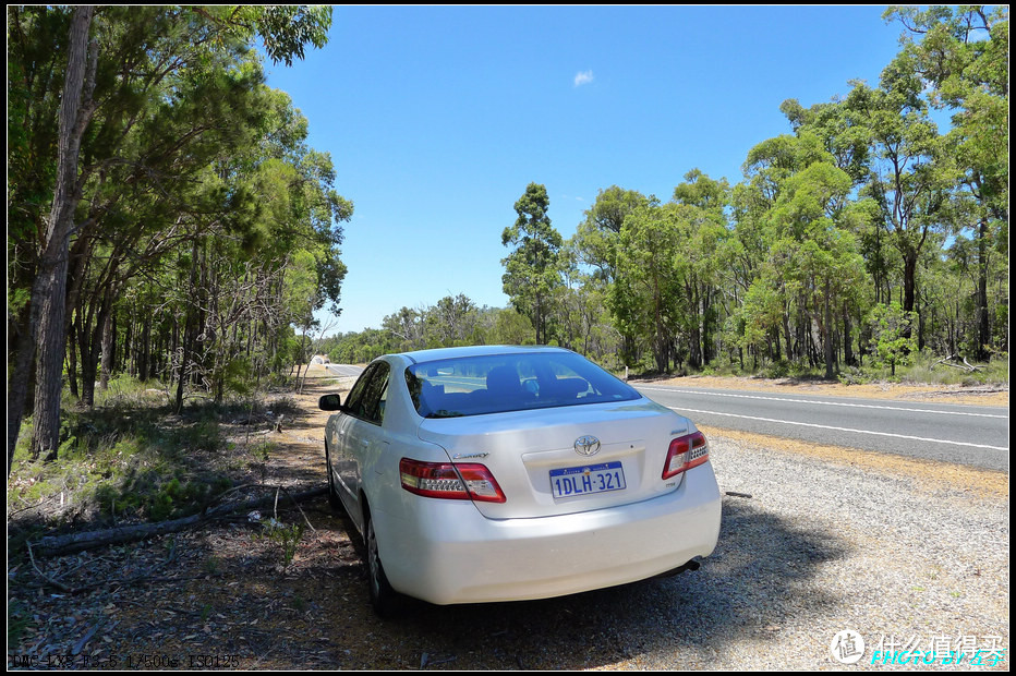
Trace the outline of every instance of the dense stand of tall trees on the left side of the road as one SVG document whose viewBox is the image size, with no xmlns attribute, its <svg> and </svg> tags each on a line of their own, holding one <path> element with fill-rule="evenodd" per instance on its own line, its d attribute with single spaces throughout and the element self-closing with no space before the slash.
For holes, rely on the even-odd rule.
<svg viewBox="0 0 1016 676">
<path fill-rule="evenodd" d="M 289 373 L 338 309 L 352 203 L 265 85 L 330 8 L 8 8 L 8 471 L 24 415 L 52 455 L 66 397 L 117 374 L 179 411 Z"/>
</svg>

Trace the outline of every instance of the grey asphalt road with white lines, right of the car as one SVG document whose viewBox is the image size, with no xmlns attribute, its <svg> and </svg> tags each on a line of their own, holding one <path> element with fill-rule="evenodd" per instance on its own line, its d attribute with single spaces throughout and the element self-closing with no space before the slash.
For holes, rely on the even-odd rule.
<svg viewBox="0 0 1016 676">
<path fill-rule="evenodd" d="M 1008 472 L 1008 410 L 948 403 L 641 386 L 693 422 Z"/>
</svg>

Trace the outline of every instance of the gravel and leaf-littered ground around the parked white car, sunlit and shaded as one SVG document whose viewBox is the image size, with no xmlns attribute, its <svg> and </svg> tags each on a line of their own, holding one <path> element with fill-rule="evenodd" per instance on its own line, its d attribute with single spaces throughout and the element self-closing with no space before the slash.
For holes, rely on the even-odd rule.
<svg viewBox="0 0 1016 676">
<path fill-rule="evenodd" d="M 291 491 L 325 481 L 316 399 L 336 390 L 329 382 L 300 399 L 305 415 L 286 425 L 270 459 L 271 480 Z M 72 666 L 88 657 L 126 668 L 215 659 L 242 669 L 827 669 L 843 668 L 830 643 L 851 629 L 867 650 L 847 668 L 915 668 L 872 665 L 872 651 L 947 642 L 970 653 L 960 669 L 1006 669 L 1006 475 L 706 434 L 723 526 L 696 572 L 537 602 L 410 602 L 383 621 L 370 607 L 359 538 L 320 498 L 303 505 L 315 530 L 288 567 L 239 519 L 39 563 L 71 586 L 107 580 L 80 593 L 9 568 L 9 599 L 34 618 L 8 664 L 72 655 Z M 303 519 L 283 500 L 279 516 Z M 132 571 L 146 577 L 132 582 Z M 1005 659 L 972 664 L 971 648 Z"/>
</svg>

